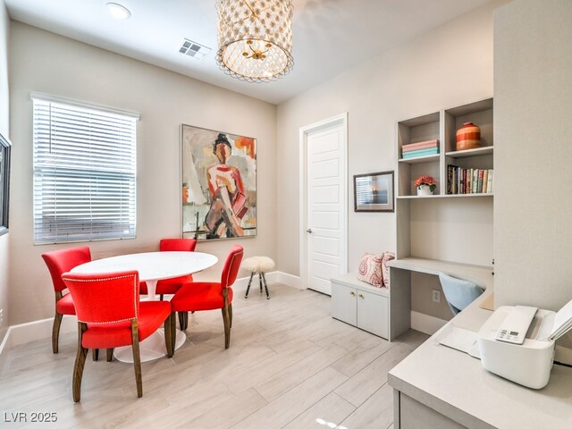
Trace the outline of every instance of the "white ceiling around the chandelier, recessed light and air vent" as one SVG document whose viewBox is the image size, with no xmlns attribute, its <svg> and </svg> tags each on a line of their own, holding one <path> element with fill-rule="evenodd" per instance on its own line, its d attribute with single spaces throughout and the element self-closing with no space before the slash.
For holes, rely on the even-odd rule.
<svg viewBox="0 0 572 429">
<path fill-rule="evenodd" d="M 280 104 L 367 58 L 491 0 L 293 0 L 294 69 L 271 83 L 247 83 L 219 70 L 214 0 L 4 0 L 13 20 Z M 179 53 L 183 38 L 213 50 L 198 61 Z M 380 71 L 381 72 L 381 71 Z"/>
</svg>

